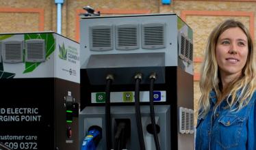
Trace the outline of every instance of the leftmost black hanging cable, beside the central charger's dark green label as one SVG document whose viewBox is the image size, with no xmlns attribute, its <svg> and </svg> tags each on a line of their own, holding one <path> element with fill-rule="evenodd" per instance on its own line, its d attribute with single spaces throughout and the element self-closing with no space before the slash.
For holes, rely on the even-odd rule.
<svg viewBox="0 0 256 150">
<path fill-rule="evenodd" d="M 112 85 L 112 81 L 114 80 L 114 76 L 112 74 L 108 74 L 106 77 L 107 84 L 105 88 L 105 127 L 106 127 L 106 144 L 107 150 L 112 149 L 112 136 L 111 136 L 111 117 L 110 117 L 110 87 Z"/>
</svg>

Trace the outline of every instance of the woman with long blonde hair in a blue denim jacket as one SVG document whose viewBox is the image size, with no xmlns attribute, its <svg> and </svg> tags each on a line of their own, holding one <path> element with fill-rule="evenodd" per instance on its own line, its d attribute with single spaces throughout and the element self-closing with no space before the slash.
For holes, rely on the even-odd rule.
<svg viewBox="0 0 256 150">
<path fill-rule="evenodd" d="M 201 69 L 196 150 L 256 149 L 256 62 L 242 23 L 226 20 L 209 35 Z"/>
</svg>

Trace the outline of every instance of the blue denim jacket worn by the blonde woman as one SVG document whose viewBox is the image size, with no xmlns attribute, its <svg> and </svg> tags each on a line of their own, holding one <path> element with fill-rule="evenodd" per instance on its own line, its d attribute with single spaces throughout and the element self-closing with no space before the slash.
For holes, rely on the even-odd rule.
<svg viewBox="0 0 256 150">
<path fill-rule="evenodd" d="M 239 93 L 238 93 L 239 95 Z M 256 149 L 256 91 L 239 111 L 231 112 L 222 101 L 214 113 L 216 93 L 210 93 L 210 110 L 199 116 L 196 125 L 196 150 L 255 150 Z"/>
</svg>

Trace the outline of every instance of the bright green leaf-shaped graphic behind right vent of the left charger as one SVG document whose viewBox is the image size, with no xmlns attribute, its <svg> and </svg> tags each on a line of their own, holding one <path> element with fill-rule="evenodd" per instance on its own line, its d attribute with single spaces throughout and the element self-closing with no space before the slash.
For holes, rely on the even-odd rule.
<svg viewBox="0 0 256 150">
<path fill-rule="evenodd" d="M 53 37 L 53 33 L 25 34 L 24 39 L 25 40 L 43 39 L 45 41 L 46 59 L 49 58 L 51 53 L 55 50 L 55 39 Z M 33 72 L 33 70 L 35 70 L 36 67 L 38 67 L 38 65 L 40 65 L 40 63 L 25 62 L 25 70 L 23 74 Z"/>
</svg>

